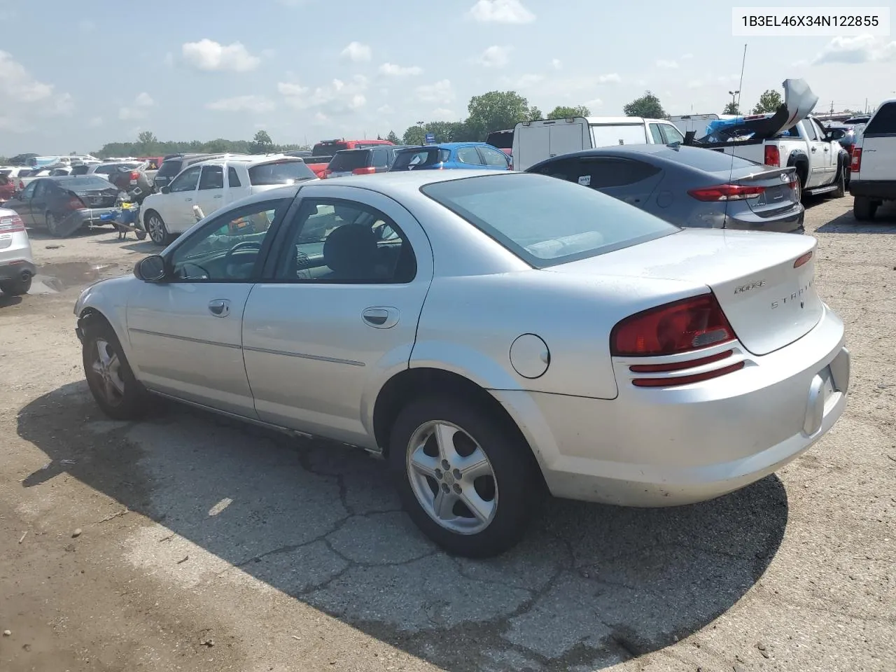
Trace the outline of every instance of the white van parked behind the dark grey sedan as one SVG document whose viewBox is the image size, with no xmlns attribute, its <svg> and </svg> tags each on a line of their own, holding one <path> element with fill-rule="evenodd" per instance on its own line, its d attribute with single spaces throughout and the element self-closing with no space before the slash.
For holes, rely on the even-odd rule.
<svg viewBox="0 0 896 672">
<path fill-rule="evenodd" d="M 513 131 L 513 169 L 525 170 L 538 161 L 595 147 L 684 141 L 685 136 L 665 119 L 641 116 L 574 116 L 523 121 Z"/>
</svg>

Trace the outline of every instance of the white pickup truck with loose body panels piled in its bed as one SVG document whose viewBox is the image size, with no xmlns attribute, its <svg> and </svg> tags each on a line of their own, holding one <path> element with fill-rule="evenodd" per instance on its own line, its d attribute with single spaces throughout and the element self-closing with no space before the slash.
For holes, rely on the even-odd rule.
<svg viewBox="0 0 896 672">
<path fill-rule="evenodd" d="M 711 133 L 694 141 L 694 146 L 768 166 L 795 167 L 800 195 L 845 195 L 849 152 L 809 116 L 818 96 L 802 80 L 785 81 L 784 96 L 784 104 L 774 114 L 711 122 L 707 128 Z"/>
</svg>

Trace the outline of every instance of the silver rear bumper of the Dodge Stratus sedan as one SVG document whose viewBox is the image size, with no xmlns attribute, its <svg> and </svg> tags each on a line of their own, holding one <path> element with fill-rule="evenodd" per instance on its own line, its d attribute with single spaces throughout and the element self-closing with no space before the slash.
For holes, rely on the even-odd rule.
<svg viewBox="0 0 896 672">
<path fill-rule="evenodd" d="M 849 351 L 825 307 L 801 339 L 740 371 L 677 388 L 638 388 L 616 363 L 615 400 L 493 391 L 535 449 L 550 491 L 626 506 L 726 495 L 794 460 L 840 418 Z M 830 384 L 828 384 L 830 382 Z"/>
</svg>

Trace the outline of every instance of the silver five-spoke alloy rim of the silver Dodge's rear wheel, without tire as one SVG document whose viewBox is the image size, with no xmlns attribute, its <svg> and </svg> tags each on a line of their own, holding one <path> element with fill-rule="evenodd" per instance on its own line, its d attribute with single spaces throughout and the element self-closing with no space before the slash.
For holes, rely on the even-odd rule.
<svg viewBox="0 0 896 672">
<path fill-rule="evenodd" d="M 444 529 L 478 534 L 495 518 L 495 470 L 461 427 L 441 420 L 419 426 L 410 437 L 406 462 L 418 503 Z"/>
</svg>

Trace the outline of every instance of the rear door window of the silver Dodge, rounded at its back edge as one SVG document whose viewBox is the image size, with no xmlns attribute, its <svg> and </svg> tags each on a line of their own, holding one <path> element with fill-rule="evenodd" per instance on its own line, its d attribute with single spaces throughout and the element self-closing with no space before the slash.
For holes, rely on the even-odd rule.
<svg viewBox="0 0 896 672">
<path fill-rule="evenodd" d="M 275 279 L 321 283 L 403 283 L 417 262 L 401 228 L 363 203 L 306 199 L 289 226 Z"/>
</svg>

